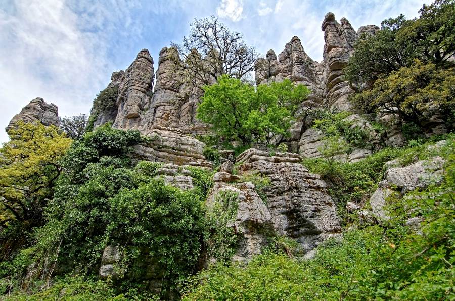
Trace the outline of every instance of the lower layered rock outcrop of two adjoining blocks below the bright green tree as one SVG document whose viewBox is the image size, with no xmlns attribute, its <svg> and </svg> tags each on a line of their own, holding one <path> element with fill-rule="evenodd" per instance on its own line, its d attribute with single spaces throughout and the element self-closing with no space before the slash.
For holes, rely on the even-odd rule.
<svg viewBox="0 0 455 301">
<path fill-rule="evenodd" d="M 241 177 L 228 172 L 215 174 L 209 199 L 226 190 L 239 195 L 239 210 L 233 225 L 241 229 L 244 239 L 235 260 L 248 260 L 260 252 L 265 235 L 291 237 L 299 243 L 302 252 L 308 252 L 341 231 L 326 183 L 309 173 L 300 161 L 297 154 L 270 156 L 268 152 L 254 148 L 237 157 L 239 175 L 258 173 L 270 180 L 270 185 L 263 188 L 267 197 L 265 204 L 254 191 L 253 184 L 233 183 L 241 181 Z"/>
</svg>

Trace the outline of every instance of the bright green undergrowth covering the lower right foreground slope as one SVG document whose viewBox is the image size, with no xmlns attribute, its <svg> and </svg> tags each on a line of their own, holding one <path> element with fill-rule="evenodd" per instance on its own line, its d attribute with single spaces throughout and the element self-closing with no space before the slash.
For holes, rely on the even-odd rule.
<svg viewBox="0 0 455 301">
<path fill-rule="evenodd" d="M 386 224 L 354 223 L 309 261 L 266 251 L 246 267 L 219 265 L 192 278 L 184 299 L 452 299 L 455 144 L 447 141 L 444 182 L 391 203 Z M 413 217 L 417 227 L 405 225 Z"/>
</svg>

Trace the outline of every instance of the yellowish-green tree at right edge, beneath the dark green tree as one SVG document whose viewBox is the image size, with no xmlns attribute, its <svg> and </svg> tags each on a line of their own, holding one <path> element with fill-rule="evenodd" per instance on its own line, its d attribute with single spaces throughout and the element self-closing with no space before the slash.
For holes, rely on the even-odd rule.
<svg viewBox="0 0 455 301">
<path fill-rule="evenodd" d="M 433 115 L 455 112 L 455 68 L 438 69 L 433 63 L 415 60 L 414 65 L 379 78 L 371 90 L 353 97 L 365 110 L 398 114 L 419 127 Z"/>
</svg>

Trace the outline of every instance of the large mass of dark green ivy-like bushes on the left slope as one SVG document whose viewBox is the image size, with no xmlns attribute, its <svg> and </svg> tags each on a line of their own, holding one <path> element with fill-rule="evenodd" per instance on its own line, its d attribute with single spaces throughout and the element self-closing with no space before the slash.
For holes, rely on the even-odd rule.
<svg viewBox="0 0 455 301">
<path fill-rule="evenodd" d="M 3 285 L 15 287 L 33 262 L 27 282 L 35 286 L 47 286 L 55 275 L 97 275 L 108 245 L 121 250 L 114 278 L 127 280 L 118 282 L 118 292 L 144 290 L 156 277 L 168 294 L 193 273 L 205 231 L 205 191 L 166 186 L 154 178 L 159 164 L 131 168 L 129 146 L 140 140 L 138 131 L 106 124 L 73 143 L 45 207 L 46 223 L 35 229 L 31 248 L 2 267 L 0 276 L 10 277 Z"/>
</svg>

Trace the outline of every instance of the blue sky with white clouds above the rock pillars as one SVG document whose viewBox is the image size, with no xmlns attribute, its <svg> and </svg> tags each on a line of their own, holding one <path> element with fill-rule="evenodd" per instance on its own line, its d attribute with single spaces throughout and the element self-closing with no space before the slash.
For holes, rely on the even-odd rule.
<svg viewBox="0 0 455 301">
<path fill-rule="evenodd" d="M 188 35 L 189 22 L 214 15 L 243 33 L 250 46 L 277 55 L 293 36 L 322 60 L 328 12 L 355 30 L 403 13 L 418 16 L 423 0 L 2 0 L 0 1 L 0 142 L 3 130 L 36 97 L 59 116 L 89 114 L 112 72 L 147 48 L 155 71 L 159 51 Z"/>
</svg>

